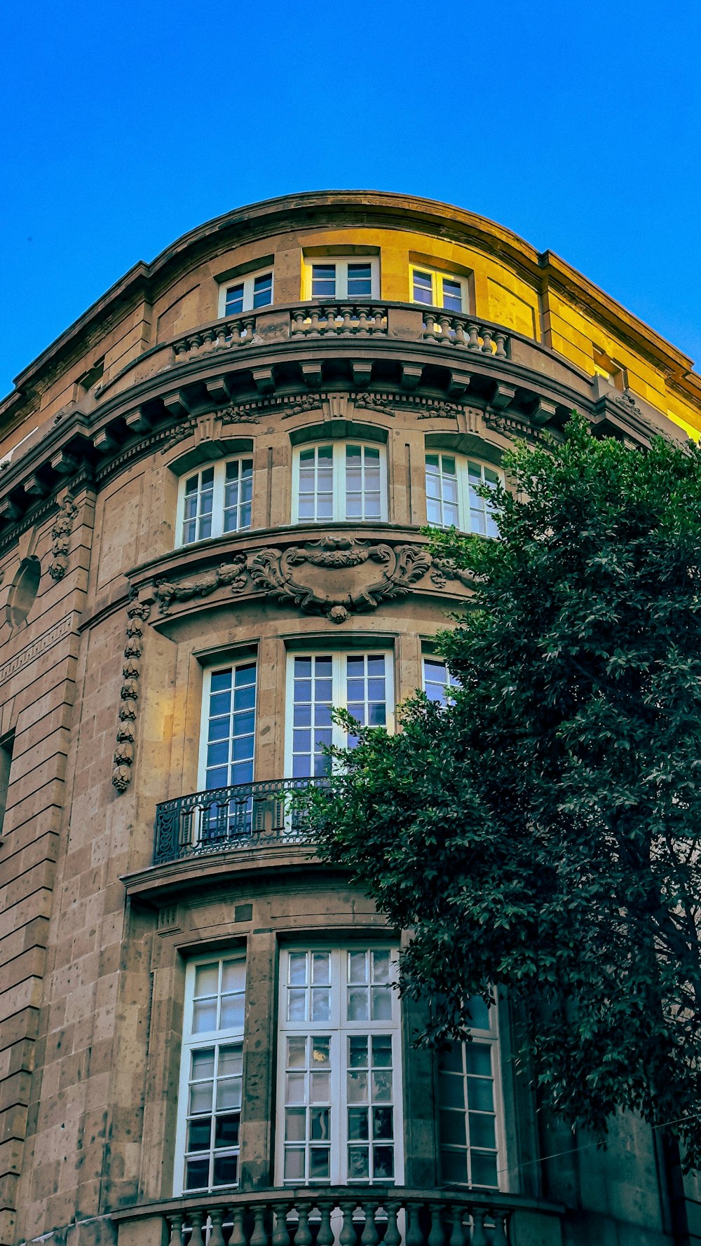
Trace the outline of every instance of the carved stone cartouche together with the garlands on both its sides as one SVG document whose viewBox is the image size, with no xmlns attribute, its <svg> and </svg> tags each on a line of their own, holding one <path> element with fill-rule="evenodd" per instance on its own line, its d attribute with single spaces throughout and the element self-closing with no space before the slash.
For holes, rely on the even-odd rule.
<svg viewBox="0 0 701 1246">
<path fill-rule="evenodd" d="M 344 623 L 350 614 L 374 611 L 382 602 L 404 596 L 424 576 L 437 588 L 448 579 L 465 584 L 444 559 L 432 558 L 425 546 L 323 536 L 287 549 L 238 553 L 182 579 L 160 579 L 153 596 L 163 616 L 178 602 L 208 597 L 221 588 L 234 597 L 261 592 L 281 606 Z"/>
</svg>

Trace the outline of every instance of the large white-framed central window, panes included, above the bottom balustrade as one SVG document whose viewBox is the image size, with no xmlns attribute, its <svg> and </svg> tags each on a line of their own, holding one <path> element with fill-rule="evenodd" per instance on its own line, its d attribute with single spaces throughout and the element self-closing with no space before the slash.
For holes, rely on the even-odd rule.
<svg viewBox="0 0 701 1246">
<path fill-rule="evenodd" d="M 276 1184 L 402 1184 L 397 949 L 281 959 Z"/>
</svg>

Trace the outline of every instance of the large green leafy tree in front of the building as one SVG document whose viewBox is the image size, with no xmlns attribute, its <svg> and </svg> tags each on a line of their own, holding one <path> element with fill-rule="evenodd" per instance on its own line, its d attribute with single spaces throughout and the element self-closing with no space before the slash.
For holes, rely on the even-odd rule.
<svg viewBox="0 0 701 1246">
<path fill-rule="evenodd" d="M 675 1121 L 700 1168 L 701 452 L 575 414 L 504 466 L 499 541 L 433 532 L 473 578 L 440 635 L 459 688 L 337 750 L 311 816 L 413 932 L 427 1042 L 505 987 L 556 1114 L 599 1138 L 619 1109 Z"/>
</svg>

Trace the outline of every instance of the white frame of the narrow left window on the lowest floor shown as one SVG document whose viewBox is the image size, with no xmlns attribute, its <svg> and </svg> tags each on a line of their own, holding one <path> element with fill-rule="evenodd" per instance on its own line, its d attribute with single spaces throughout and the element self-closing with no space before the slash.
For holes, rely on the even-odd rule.
<svg viewBox="0 0 701 1246">
<path fill-rule="evenodd" d="M 243 963 L 244 978 L 243 978 L 243 1013 L 246 1012 L 246 952 L 244 949 L 234 948 L 231 952 L 222 952 L 220 954 L 197 956 L 192 957 L 186 966 L 185 971 L 185 998 L 183 998 L 183 1014 L 182 1014 L 182 1044 L 181 1044 L 181 1060 L 180 1060 L 180 1078 L 178 1078 L 178 1096 L 177 1096 L 177 1123 L 176 1123 L 176 1141 L 175 1141 L 175 1169 L 173 1169 L 173 1196 L 180 1197 L 185 1194 L 185 1156 L 187 1154 L 187 1118 L 188 1118 L 188 1089 L 190 1089 L 190 1069 L 191 1069 L 191 1055 L 192 1052 L 200 1048 L 220 1048 L 228 1045 L 241 1044 L 242 1058 L 243 1058 L 243 1029 L 244 1022 L 242 1019 L 241 1025 L 230 1027 L 226 1029 L 213 1029 L 202 1030 L 197 1034 L 192 1033 L 192 1019 L 193 1019 L 193 1003 L 195 1003 L 195 977 L 196 971 L 203 964 L 217 964 L 218 977 L 220 977 L 220 992 L 217 994 L 217 1001 L 222 998 L 221 994 L 221 979 L 222 979 L 222 964 L 225 961 L 237 961 Z M 216 1085 L 216 1083 L 215 1083 Z M 242 1082 L 243 1085 L 243 1082 Z M 239 1108 L 239 1121 L 243 1118 L 243 1095 Z M 215 1118 L 216 1105 L 212 1104 L 212 1121 Z M 241 1124 L 239 1124 L 241 1130 Z M 210 1139 L 210 1151 L 213 1150 L 213 1139 Z M 238 1144 L 241 1148 L 241 1141 Z M 233 1150 L 233 1148 L 231 1148 Z M 202 1153 L 205 1155 L 205 1151 Z M 238 1164 L 237 1164 L 237 1176 L 241 1180 L 241 1150 L 238 1149 Z M 238 1185 L 238 1181 L 237 1181 Z M 227 1186 L 211 1186 L 207 1189 L 205 1186 L 197 1186 L 196 1190 L 190 1191 L 192 1195 L 201 1192 L 206 1194 L 212 1189 L 227 1189 Z"/>
</svg>

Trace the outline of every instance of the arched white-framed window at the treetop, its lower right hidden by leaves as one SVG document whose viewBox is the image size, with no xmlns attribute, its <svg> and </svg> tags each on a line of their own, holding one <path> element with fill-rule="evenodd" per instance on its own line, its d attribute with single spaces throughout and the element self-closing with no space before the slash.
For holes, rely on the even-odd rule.
<svg viewBox="0 0 701 1246">
<path fill-rule="evenodd" d="M 425 493 L 427 517 L 437 527 L 455 526 L 462 532 L 478 532 L 484 537 L 498 537 L 499 526 L 494 510 L 475 488 L 486 485 L 494 488 L 501 480 L 498 471 L 464 455 L 447 454 L 444 450 L 427 451 Z"/>
</svg>

